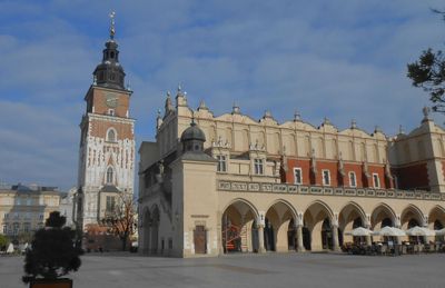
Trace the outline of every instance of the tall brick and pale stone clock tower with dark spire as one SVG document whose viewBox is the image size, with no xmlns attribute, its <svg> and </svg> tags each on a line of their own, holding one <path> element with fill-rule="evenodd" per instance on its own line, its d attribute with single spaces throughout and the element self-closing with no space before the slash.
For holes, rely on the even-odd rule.
<svg viewBox="0 0 445 288">
<path fill-rule="evenodd" d="M 113 13 L 110 17 L 110 39 L 92 73 L 80 123 L 75 219 L 82 230 L 112 213 L 122 197 L 132 197 L 134 192 L 135 120 L 129 113 L 132 91 L 125 87 Z"/>
</svg>

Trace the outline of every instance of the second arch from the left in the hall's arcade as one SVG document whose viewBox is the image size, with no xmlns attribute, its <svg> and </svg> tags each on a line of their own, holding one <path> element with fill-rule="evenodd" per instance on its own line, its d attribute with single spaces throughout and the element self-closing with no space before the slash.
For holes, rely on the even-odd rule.
<svg viewBox="0 0 445 288">
<path fill-rule="evenodd" d="M 295 224 L 298 213 L 289 202 L 283 199 L 275 200 L 268 207 L 264 239 L 266 250 L 295 250 Z"/>
</svg>

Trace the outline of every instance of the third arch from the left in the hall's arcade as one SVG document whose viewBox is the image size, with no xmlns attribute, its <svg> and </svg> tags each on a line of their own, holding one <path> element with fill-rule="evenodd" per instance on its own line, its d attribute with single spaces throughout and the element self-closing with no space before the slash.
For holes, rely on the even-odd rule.
<svg viewBox="0 0 445 288">
<path fill-rule="evenodd" d="M 333 232 L 333 229 L 329 231 L 326 228 L 335 227 L 333 224 L 336 224 L 336 219 L 332 209 L 325 202 L 319 200 L 313 201 L 306 208 L 303 221 L 304 234 L 309 234 L 304 235 L 306 249 L 319 251 L 333 248 L 336 232 Z M 310 247 L 306 244 L 307 238 L 309 238 Z"/>
</svg>

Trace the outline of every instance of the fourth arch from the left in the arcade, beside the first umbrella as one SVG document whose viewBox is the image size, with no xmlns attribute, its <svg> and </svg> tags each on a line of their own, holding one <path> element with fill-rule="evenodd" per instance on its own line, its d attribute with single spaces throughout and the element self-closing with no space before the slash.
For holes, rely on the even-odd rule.
<svg viewBox="0 0 445 288">
<path fill-rule="evenodd" d="M 357 228 L 356 226 L 367 227 L 368 221 L 363 208 L 358 203 L 349 201 L 343 206 L 338 213 L 339 245 L 343 245 L 343 242 L 352 242 L 354 240 L 350 235 L 345 235 L 345 231 L 350 231 Z"/>
</svg>

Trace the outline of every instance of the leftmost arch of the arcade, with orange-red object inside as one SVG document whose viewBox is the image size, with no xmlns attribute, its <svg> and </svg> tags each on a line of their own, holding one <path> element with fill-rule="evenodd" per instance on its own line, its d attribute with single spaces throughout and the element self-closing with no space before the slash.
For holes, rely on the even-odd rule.
<svg viewBox="0 0 445 288">
<path fill-rule="evenodd" d="M 247 252 L 259 250 L 257 208 L 246 199 L 236 198 L 231 200 L 222 211 L 222 251 Z"/>
</svg>

